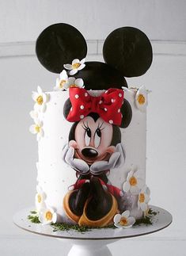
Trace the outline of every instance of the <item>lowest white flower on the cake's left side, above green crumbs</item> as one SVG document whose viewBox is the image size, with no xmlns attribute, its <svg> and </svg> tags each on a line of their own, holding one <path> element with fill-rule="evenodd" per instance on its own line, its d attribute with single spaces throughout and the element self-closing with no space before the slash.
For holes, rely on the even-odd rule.
<svg viewBox="0 0 186 256">
<path fill-rule="evenodd" d="M 57 213 L 51 207 L 41 208 L 39 212 L 39 220 L 42 224 L 55 224 L 57 221 Z"/>
</svg>

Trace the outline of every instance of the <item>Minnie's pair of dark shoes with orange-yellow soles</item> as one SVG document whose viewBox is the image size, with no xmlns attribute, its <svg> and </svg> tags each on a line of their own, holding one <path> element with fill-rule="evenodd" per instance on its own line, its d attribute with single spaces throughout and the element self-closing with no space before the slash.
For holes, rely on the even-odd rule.
<svg viewBox="0 0 186 256">
<path fill-rule="evenodd" d="M 79 189 L 66 193 L 64 197 L 66 215 L 79 226 L 105 227 L 112 224 L 118 208 L 116 197 L 104 190 L 100 178 L 92 177 L 89 182 L 80 183 Z"/>
</svg>

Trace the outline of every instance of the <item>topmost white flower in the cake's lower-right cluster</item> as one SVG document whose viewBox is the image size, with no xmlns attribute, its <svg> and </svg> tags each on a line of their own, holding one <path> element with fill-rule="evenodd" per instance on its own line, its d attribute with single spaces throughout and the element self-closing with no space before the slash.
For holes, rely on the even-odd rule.
<svg viewBox="0 0 186 256">
<path fill-rule="evenodd" d="M 136 167 L 134 166 L 131 171 L 127 174 L 127 181 L 123 183 L 123 191 L 130 191 L 132 194 L 139 194 L 140 189 L 142 189 L 144 181 L 140 178 Z"/>
</svg>

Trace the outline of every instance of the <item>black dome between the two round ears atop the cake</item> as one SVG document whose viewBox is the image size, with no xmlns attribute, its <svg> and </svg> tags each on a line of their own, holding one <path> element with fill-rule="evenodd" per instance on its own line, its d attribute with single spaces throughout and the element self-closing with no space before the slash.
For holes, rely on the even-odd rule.
<svg viewBox="0 0 186 256">
<path fill-rule="evenodd" d="M 86 62 L 85 67 L 74 75 L 82 78 L 86 90 L 108 90 L 109 88 L 127 87 L 127 82 L 120 71 L 106 63 Z"/>
</svg>

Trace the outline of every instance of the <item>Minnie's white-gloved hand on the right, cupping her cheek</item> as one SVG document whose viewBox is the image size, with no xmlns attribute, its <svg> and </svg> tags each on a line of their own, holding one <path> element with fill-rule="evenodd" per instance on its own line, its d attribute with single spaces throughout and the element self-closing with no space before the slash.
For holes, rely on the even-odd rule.
<svg viewBox="0 0 186 256">
<path fill-rule="evenodd" d="M 125 161 L 125 152 L 121 143 L 116 145 L 116 151 L 111 155 L 108 161 L 93 162 L 90 166 L 90 172 L 92 174 L 99 174 L 103 170 L 110 170 L 118 168 Z"/>
</svg>

